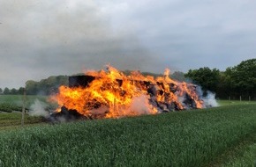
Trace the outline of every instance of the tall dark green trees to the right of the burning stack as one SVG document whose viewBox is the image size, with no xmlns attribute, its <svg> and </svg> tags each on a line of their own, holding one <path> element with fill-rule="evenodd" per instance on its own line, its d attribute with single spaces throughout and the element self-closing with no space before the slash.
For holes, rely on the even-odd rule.
<svg viewBox="0 0 256 167">
<path fill-rule="evenodd" d="M 213 91 L 217 98 L 256 99 L 256 59 L 240 62 L 225 71 L 219 69 L 190 69 L 185 77 L 199 84 L 206 94 Z"/>
</svg>

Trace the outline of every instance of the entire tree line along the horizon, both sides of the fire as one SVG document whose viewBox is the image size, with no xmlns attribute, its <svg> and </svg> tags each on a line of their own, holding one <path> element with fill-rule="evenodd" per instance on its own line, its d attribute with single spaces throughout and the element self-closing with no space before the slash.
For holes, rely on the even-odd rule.
<svg viewBox="0 0 256 167">
<path fill-rule="evenodd" d="M 130 74 L 131 71 L 124 71 Z M 143 72 L 143 75 L 162 76 L 159 74 Z M 256 99 L 256 59 L 249 59 L 240 62 L 237 66 L 229 67 L 225 71 L 219 69 L 189 69 L 187 73 L 176 71 L 170 76 L 179 81 L 188 81 L 199 84 L 203 93 L 215 92 L 217 98 L 231 99 Z M 49 76 L 41 81 L 29 80 L 26 82 L 26 94 L 28 95 L 49 95 L 56 93 L 60 85 L 68 85 L 68 76 Z M 18 90 L 0 88 L 0 94 L 23 94 L 24 87 Z"/>
</svg>

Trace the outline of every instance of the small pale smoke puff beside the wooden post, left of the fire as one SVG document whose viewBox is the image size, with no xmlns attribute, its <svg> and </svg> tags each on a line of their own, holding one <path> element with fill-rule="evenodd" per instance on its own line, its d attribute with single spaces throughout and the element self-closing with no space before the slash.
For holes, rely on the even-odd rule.
<svg viewBox="0 0 256 167">
<path fill-rule="evenodd" d="M 49 117 L 49 112 L 45 110 L 47 104 L 41 102 L 39 99 L 34 100 L 34 104 L 30 106 L 29 115 Z"/>
</svg>

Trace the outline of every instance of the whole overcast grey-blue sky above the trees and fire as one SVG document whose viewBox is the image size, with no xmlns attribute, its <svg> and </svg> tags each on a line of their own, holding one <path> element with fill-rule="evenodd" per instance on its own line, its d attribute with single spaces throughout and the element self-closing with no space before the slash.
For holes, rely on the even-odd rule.
<svg viewBox="0 0 256 167">
<path fill-rule="evenodd" d="M 86 69 L 225 70 L 256 58 L 255 0 L 0 0 L 0 88 Z"/>
</svg>

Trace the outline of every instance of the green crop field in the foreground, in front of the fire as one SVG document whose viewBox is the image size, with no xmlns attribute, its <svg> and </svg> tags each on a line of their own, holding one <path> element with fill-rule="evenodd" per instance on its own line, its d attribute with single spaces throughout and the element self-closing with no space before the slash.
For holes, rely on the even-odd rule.
<svg viewBox="0 0 256 167">
<path fill-rule="evenodd" d="M 256 105 L 227 105 L 3 131 L 0 166 L 253 166 L 255 120 Z"/>
</svg>

